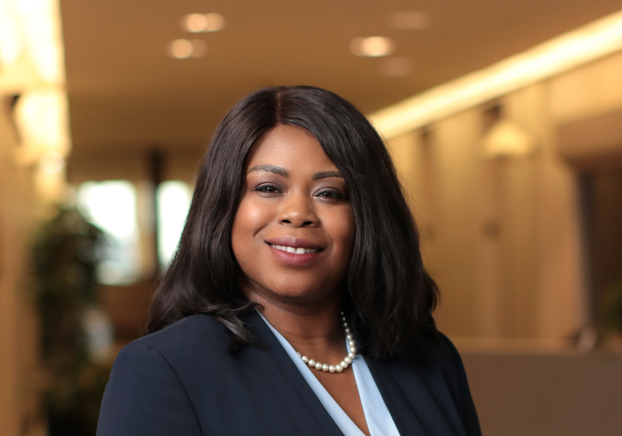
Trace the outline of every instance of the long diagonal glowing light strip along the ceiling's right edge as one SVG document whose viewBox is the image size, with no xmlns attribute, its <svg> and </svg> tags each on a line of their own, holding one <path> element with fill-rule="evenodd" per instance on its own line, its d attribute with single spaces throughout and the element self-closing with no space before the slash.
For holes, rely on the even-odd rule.
<svg viewBox="0 0 622 436">
<path fill-rule="evenodd" d="M 622 50 L 622 11 L 369 115 L 386 139 Z"/>
</svg>

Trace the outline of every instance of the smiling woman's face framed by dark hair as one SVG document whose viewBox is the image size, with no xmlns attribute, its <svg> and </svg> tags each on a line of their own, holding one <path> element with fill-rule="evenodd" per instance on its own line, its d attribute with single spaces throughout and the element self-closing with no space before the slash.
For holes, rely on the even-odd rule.
<svg viewBox="0 0 622 436">
<path fill-rule="evenodd" d="M 243 283 L 290 302 L 335 294 L 355 222 L 345 181 L 320 143 L 300 127 L 274 127 L 251 149 L 245 174 L 231 230 Z"/>
</svg>

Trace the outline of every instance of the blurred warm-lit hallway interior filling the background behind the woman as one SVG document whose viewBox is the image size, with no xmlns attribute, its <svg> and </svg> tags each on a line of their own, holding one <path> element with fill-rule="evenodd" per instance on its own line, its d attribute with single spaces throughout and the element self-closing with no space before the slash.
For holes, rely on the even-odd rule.
<svg viewBox="0 0 622 436">
<path fill-rule="evenodd" d="M 620 7 L 0 0 L 3 434 L 49 430 L 45 223 L 67 207 L 102 232 L 76 255 L 95 272 L 58 279 L 95 287 L 70 320 L 91 395 L 140 335 L 213 129 L 279 84 L 340 94 L 386 139 L 485 435 L 621 434 Z"/>
</svg>

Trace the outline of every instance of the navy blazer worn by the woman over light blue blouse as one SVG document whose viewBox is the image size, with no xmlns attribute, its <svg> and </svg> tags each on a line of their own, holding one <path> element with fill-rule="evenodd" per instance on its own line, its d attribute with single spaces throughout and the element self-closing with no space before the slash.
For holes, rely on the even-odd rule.
<svg viewBox="0 0 622 436">
<path fill-rule="evenodd" d="M 228 353 L 230 334 L 209 315 L 123 348 L 97 435 L 343 436 L 259 314 L 246 322 L 264 348 Z M 365 360 L 401 436 L 481 435 L 462 360 L 445 336 L 420 337 L 392 360 Z"/>
</svg>

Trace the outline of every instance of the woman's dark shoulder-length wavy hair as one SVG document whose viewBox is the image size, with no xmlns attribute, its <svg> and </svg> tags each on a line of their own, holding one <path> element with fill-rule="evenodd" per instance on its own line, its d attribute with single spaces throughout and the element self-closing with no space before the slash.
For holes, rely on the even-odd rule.
<svg viewBox="0 0 622 436">
<path fill-rule="evenodd" d="M 254 91 L 226 114 L 198 170 L 179 247 L 144 322 L 149 334 L 192 314 L 211 314 L 235 350 L 254 343 L 243 322 L 253 304 L 236 286 L 231 227 L 255 141 L 276 125 L 309 130 L 345 179 L 356 236 L 343 309 L 361 352 L 387 357 L 421 332 L 436 333 L 438 289 L 425 272 L 419 234 L 383 140 L 350 102 L 312 86 Z"/>
</svg>

